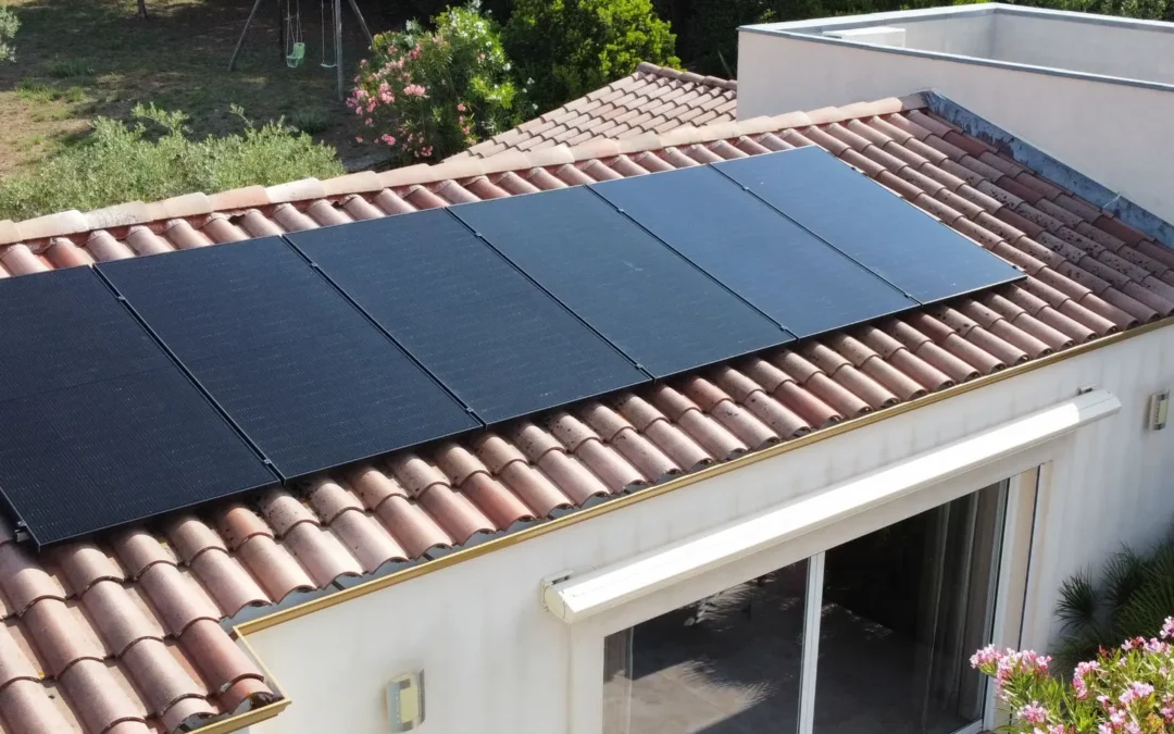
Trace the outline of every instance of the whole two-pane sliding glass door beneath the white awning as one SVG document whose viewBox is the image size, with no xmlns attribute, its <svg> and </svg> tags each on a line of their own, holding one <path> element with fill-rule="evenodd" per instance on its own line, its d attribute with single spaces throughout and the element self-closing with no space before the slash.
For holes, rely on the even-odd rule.
<svg viewBox="0 0 1174 734">
<path fill-rule="evenodd" d="M 1007 484 L 605 641 L 605 734 L 952 734 L 983 715 Z"/>
</svg>

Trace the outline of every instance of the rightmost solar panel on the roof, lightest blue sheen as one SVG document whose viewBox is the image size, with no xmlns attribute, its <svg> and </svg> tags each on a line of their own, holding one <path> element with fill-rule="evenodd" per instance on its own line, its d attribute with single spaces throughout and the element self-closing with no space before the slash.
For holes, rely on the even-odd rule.
<svg viewBox="0 0 1174 734">
<path fill-rule="evenodd" d="M 922 303 L 1024 277 L 815 146 L 713 167 Z"/>
</svg>

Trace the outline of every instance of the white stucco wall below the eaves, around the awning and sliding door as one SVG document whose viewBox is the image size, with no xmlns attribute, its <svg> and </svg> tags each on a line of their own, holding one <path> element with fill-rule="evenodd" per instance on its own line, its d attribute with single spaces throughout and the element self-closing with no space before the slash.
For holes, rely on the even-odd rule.
<svg viewBox="0 0 1174 734">
<path fill-rule="evenodd" d="M 1174 385 L 1172 350 L 1167 326 L 254 633 L 294 700 L 255 734 L 385 732 L 383 687 L 416 668 L 421 734 L 566 734 L 572 628 L 544 611 L 544 577 L 632 558 L 1097 385 L 1121 412 L 1066 438 L 1045 472 L 1025 629 L 1040 646 L 1065 577 L 1174 520 L 1174 427 L 1143 419 L 1148 396 Z"/>
</svg>

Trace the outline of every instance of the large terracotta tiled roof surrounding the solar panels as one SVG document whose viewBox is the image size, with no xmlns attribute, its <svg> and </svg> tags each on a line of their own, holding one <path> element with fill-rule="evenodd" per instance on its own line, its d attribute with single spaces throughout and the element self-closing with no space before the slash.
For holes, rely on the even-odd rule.
<svg viewBox="0 0 1174 734">
<path fill-rule="evenodd" d="M 93 545 L 34 554 L 0 534 L 4 732 L 174 729 L 250 694 L 264 700 L 262 674 L 222 618 L 1167 316 L 1174 251 L 933 116 L 920 97 L 0 222 L 7 277 L 807 144 L 1030 277 Z"/>
</svg>

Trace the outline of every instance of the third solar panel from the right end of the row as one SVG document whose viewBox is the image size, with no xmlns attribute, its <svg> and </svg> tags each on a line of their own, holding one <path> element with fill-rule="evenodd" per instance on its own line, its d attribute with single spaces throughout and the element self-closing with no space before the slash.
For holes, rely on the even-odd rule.
<svg viewBox="0 0 1174 734">
<path fill-rule="evenodd" d="M 795 338 L 586 188 L 451 211 L 654 377 Z"/>
</svg>

